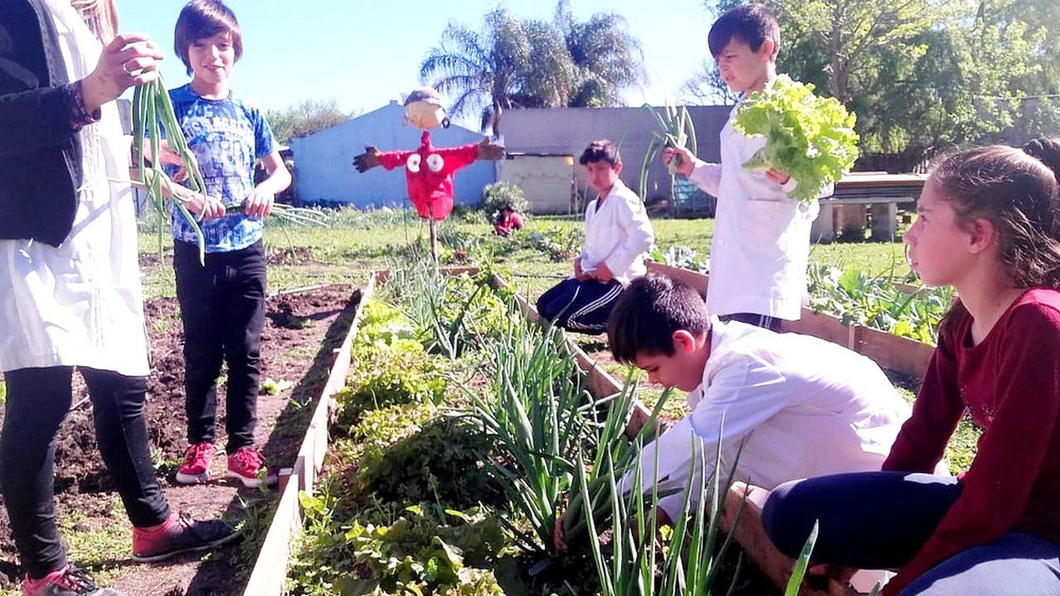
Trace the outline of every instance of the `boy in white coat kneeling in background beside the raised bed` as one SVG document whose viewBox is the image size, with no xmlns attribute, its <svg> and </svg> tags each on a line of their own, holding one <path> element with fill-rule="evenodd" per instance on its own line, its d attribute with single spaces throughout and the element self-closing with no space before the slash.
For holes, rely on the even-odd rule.
<svg viewBox="0 0 1060 596">
<path fill-rule="evenodd" d="M 589 143 L 578 160 L 599 196 L 585 209 L 585 245 L 575 275 L 537 299 L 537 311 L 556 327 L 601 333 L 630 279 L 644 274 L 643 253 L 655 241 L 640 197 L 618 175 L 622 160 L 611 141 Z"/>
</svg>

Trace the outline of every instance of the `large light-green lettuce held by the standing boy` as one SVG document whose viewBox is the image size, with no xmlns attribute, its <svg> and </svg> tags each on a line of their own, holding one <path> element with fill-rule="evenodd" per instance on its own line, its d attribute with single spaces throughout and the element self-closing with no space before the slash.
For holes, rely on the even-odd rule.
<svg viewBox="0 0 1060 596">
<path fill-rule="evenodd" d="M 855 120 L 838 100 L 818 97 L 813 85 L 780 75 L 737 109 L 734 127 L 766 138 L 745 168 L 785 171 L 798 183 L 789 196 L 812 201 L 858 159 Z"/>
</svg>

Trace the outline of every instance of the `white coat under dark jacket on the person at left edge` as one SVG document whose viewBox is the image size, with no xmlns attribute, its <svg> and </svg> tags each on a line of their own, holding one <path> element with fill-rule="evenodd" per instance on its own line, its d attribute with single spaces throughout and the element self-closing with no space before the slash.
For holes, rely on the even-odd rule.
<svg viewBox="0 0 1060 596">
<path fill-rule="evenodd" d="M 68 0 L 46 0 L 71 80 L 102 47 Z M 77 133 L 84 183 L 73 230 L 59 248 L 0 240 L 0 371 L 86 366 L 148 372 L 129 142 L 113 102 Z"/>
</svg>

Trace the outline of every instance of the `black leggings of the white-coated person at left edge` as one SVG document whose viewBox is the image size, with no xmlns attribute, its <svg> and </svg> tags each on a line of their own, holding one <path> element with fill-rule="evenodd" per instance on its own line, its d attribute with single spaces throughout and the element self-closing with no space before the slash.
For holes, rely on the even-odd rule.
<svg viewBox="0 0 1060 596">
<path fill-rule="evenodd" d="M 92 401 L 100 453 L 134 526 L 170 516 L 155 477 L 143 417 L 147 379 L 78 368 Z M 55 437 L 71 404 L 73 368 L 20 368 L 4 374 L 7 402 L 0 433 L 0 489 L 15 545 L 30 577 L 66 564 L 55 525 Z"/>
</svg>

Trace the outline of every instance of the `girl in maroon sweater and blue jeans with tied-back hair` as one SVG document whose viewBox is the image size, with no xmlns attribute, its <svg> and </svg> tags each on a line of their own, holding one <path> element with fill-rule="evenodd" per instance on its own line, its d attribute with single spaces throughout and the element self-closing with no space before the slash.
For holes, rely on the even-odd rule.
<svg viewBox="0 0 1060 596">
<path fill-rule="evenodd" d="M 884 594 L 1060 594 L 1060 142 L 957 153 L 905 235 L 926 285 L 960 296 L 882 472 L 778 487 L 763 510 L 795 556 L 898 568 Z M 957 478 L 932 475 L 961 416 L 983 428 Z"/>
</svg>

